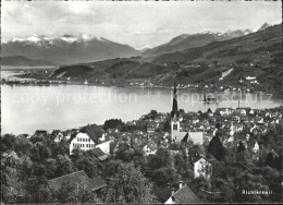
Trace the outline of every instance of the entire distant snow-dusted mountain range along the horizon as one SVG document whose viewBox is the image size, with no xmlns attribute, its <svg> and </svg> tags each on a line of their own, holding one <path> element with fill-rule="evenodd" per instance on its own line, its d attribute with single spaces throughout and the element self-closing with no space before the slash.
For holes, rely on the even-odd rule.
<svg viewBox="0 0 283 205">
<path fill-rule="evenodd" d="M 263 24 L 259 31 L 268 28 Z M 202 47 L 213 41 L 223 41 L 253 33 L 251 29 L 227 31 L 225 33 L 205 32 L 199 34 L 183 34 L 169 43 L 151 48 L 145 46 L 139 50 L 124 44 L 114 43 L 106 38 L 88 34 L 62 35 L 47 37 L 33 35 L 27 38 L 14 38 L 1 43 L 2 57 L 26 57 L 28 59 L 42 59 L 53 64 L 74 64 L 83 62 L 101 61 L 114 58 L 128 58 L 142 56 L 152 58 L 160 55 L 184 51 L 186 49 Z M 19 61 L 16 60 L 16 64 Z M 41 64 L 40 64 L 41 65 Z"/>
</svg>

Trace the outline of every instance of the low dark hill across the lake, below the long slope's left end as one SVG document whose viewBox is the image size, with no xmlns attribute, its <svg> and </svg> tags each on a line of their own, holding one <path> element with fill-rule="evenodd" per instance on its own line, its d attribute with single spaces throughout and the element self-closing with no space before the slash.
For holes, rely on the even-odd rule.
<svg viewBox="0 0 283 205">
<path fill-rule="evenodd" d="M 139 62 L 138 58 L 111 59 L 94 63 L 61 67 L 53 73 L 53 77 L 72 77 L 73 80 L 97 79 L 131 80 L 150 79 L 171 70 L 162 65 Z"/>
</svg>

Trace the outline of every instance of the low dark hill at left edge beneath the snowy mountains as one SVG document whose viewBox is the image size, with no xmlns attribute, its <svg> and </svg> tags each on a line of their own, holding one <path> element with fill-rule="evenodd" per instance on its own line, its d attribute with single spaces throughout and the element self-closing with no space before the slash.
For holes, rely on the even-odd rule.
<svg viewBox="0 0 283 205">
<path fill-rule="evenodd" d="M 41 67 L 41 65 L 54 65 L 54 63 L 47 60 L 29 59 L 24 56 L 14 57 L 1 57 L 2 65 L 15 65 L 15 67 Z"/>
</svg>

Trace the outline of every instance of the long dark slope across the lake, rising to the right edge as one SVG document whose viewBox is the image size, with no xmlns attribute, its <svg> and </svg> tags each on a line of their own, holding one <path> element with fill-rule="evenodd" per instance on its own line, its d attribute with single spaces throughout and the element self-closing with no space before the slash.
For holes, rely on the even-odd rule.
<svg viewBox="0 0 283 205">
<path fill-rule="evenodd" d="M 84 63 L 89 70 L 81 70 L 84 74 L 77 76 L 73 74 L 72 68 L 81 68 L 70 65 L 63 75 L 89 81 L 115 80 L 114 82 L 125 84 L 143 80 L 153 85 L 171 86 L 175 81 L 183 86 L 213 84 L 219 87 L 223 85 L 282 92 L 281 34 L 281 25 L 275 25 L 242 37 L 156 58 L 116 58 Z M 220 81 L 223 73 L 227 74 Z M 257 77 L 257 82 L 250 84 L 246 81 L 248 76 Z M 241 83 L 239 80 L 245 81 Z"/>
</svg>

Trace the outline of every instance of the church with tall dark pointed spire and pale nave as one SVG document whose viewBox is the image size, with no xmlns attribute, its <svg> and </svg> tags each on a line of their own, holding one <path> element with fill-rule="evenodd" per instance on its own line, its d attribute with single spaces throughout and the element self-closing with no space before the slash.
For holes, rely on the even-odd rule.
<svg viewBox="0 0 283 205">
<path fill-rule="evenodd" d="M 181 128 L 182 117 L 177 109 L 177 91 L 174 84 L 173 106 L 171 111 L 171 143 L 182 143 L 192 141 L 194 144 L 204 144 L 204 132 L 188 132 Z"/>
</svg>

